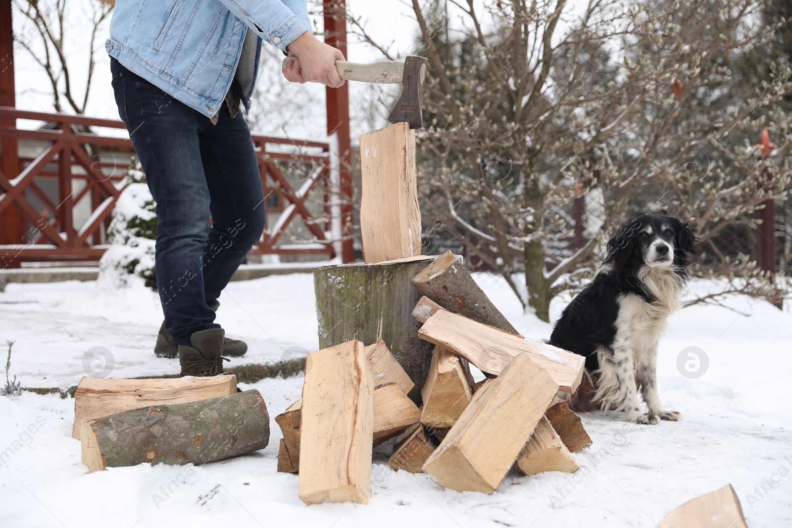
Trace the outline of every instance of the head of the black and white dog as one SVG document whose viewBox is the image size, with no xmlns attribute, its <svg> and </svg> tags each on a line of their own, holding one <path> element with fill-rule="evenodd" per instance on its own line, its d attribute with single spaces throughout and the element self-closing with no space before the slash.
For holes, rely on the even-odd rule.
<svg viewBox="0 0 792 528">
<path fill-rule="evenodd" d="M 686 268 L 695 249 L 695 232 L 683 223 L 664 215 L 645 215 L 627 223 L 607 243 L 605 264 L 614 268 L 650 268 L 675 265 Z"/>
</svg>

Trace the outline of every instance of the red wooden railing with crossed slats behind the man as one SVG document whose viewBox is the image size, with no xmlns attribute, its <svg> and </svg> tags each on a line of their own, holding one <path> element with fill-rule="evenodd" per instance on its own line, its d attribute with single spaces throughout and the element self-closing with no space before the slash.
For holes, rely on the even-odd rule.
<svg viewBox="0 0 792 528">
<path fill-rule="evenodd" d="M 54 123 L 52 130 L 22 129 L 8 124 L 0 126 L 0 139 L 29 139 L 48 142 L 48 146 L 36 158 L 20 158 L 16 174 L 0 171 L 0 215 L 15 205 L 25 220 L 25 232 L 3 233 L 6 244 L 0 245 L 0 267 L 16 267 L 24 260 L 97 260 L 107 249 L 103 244 L 105 220 L 126 184 L 124 171 L 128 168 L 128 157 L 121 162 L 101 161 L 97 154 L 93 158 L 88 152 L 97 153 L 113 150 L 133 152 L 126 137 L 103 136 L 88 132 L 89 127 L 117 128 L 125 131 L 124 123 L 85 116 L 69 116 L 47 112 L 28 112 L 0 106 L 0 123 L 14 120 L 35 120 Z M 334 256 L 333 243 L 328 240 L 329 199 L 328 185 L 322 185 L 323 214 L 315 218 L 310 213 L 308 199 L 320 180 L 329 177 L 329 143 L 308 142 L 294 139 L 252 136 L 256 146 L 262 185 L 265 194 L 276 192 L 288 202 L 276 225 L 265 230 L 261 242 L 251 253 L 257 254 L 312 254 L 324 253 Z M 287 154 L 268 150 L 268 145 L 287 145 L 302 150 L 313 150 L 316 154 Z M 310 174 L 300 188 L 294 189 L 280 171 L 277 161 L 310 163 Z M 7 164 L 0 167 L 6 166 Z M 79 168 L 76 172 L 74 168 Z M 82 169 L 82 170 L 80 170 Z M 269 177 L 274 188 L 268 184 Z M 58 203 L 47 195 L 37 178 L 55 178 L 58 182 Z M 85 184 L 74 191 L 74 180 Z M 29 192 L 44 203 L 39 211 L 29 200 Z M 85 196 L 90 196 L 91 214 L 82 226 L 74 226 L 74 206 Z M 287 227 L 301 218 L 310 239 L 292 241 L 289 245 L 278 244 Z M 0 226 L 0 231 L 6 226 Z M 14 237 L 19 240 L 13 242 Z M 9 242 L 13 243 L 9 243 Z"/>
</svg>

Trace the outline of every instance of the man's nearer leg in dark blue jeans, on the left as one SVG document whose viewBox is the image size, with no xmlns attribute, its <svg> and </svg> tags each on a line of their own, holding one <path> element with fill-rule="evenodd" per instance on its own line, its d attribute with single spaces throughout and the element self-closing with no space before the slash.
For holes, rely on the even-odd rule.
<svg viewBox="0 0 792 528">
<path fill-rule="evenodd" d="M 157 285 L 166 327 L 177 345 L 194 332 L 219 329 L 204 294 L 209 190 L 199 133 L 208 118 L 111 59 L 121 119 L 157 203 Z M 204 123 L 205 122 L 205 123 Z"/>
</svg>

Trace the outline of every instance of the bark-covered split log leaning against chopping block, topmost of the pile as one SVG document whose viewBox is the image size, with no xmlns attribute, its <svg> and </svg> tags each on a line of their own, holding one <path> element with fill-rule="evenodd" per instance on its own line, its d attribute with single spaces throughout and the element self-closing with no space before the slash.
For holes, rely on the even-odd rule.
<svg viewBox="0 0 792 528">
<path fill-rule="evenodd" d="M 493 305 L 460 260 L 451 251 L 443 253 L 413 277 L 413 284 L 421 294 L 451 313 L 519 336 L 520 332 Z"/>
</svg>

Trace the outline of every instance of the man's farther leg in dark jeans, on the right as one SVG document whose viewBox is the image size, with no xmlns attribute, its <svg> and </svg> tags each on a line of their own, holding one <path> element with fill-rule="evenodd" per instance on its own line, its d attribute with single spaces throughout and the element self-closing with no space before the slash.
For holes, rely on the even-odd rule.
<svg viewBox="0 0 792 528">
<path fill-rule="evenodd" d="M 204 291 L 210 304 L 237 271 L 264 231 L 264 190 L 250 131 L 239 112 L 225 105 L 215 127 L 200 133 L 200 154 L 211 196 L 211 221 L 204 251 Z"/>
</svg>

